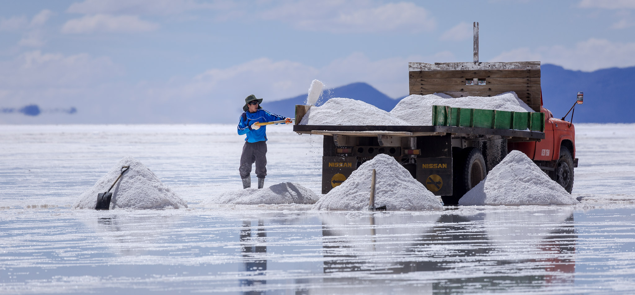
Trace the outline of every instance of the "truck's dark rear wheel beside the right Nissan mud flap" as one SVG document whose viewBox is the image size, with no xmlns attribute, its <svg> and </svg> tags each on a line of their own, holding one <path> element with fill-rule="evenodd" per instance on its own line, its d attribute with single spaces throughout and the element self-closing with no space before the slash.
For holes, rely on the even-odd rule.
<svg viewBox="0 0 635 295">
<path fill-rule="evenodd" d="M 453 195 L 441 197 L 445 206 L 457 205 L 458 200 L 487 175 L 485 158 L 478 148 L 452 148 L 452 161 Z"/>
</svg>

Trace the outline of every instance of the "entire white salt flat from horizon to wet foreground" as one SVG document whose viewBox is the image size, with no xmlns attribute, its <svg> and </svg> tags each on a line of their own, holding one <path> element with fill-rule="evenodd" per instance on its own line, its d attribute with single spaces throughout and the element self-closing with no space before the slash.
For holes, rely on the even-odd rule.
<svg viewBox="0 0 635 295">
<path fill-rule="evenodd" d="M 576 206 L 201 206 L 238 190 L 234 125 L 1 126 L 0 294 L 632 294 L 635 124 L 576 124 Z M 267 130 L 267 181 L 320 190 L 321 136 Z M 130 155 L 180 210 L 72 209 Z"/>
</svg>

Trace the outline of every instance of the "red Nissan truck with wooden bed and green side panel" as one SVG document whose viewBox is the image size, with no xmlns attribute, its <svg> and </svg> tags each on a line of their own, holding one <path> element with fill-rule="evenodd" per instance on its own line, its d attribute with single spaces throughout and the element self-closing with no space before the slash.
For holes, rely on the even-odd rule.
<svg viewBox="0 0 635 295">
<path fill-rule="evenodd" d="M 543 107 L 540 62 L 409 63 L 409 75 L 410 95 L 459 98 L 514 91 L 535 112 L 435 106 L 432 126 L 312 126 L 299 124 L 310 106 L 297 105 L 293 131 L 324 136 L 322 193 L 363 162 L 388 154 L 446 205 L 457 204 L 509 150 L 525 153 L 572 191 L 575 128 Z M 582 99 L 578 93 L 577 103 Z"/>
</svg>

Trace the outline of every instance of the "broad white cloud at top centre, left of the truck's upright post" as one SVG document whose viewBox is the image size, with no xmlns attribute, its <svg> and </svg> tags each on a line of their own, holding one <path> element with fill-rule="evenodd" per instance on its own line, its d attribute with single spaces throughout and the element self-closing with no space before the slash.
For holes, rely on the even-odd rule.
<svg viewBox="0 0 635 295">
<path fill-rule="evenodd" d="M 436 27 L 427 10 L 407 2 L 377 5 L 370 1 L 303 0 L 284 3 L 259 15 L 302 30 L 335 33 L 421 32 Z"/>
</svg>

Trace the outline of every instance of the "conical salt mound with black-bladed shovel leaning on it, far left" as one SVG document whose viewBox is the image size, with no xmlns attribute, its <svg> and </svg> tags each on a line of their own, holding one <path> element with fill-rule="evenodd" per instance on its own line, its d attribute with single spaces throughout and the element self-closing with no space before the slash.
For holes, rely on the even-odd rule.
<svg viewBox="0 0 635 295">
<path fill-rule="evenodd" d="M 110 190 L 112 192 L 110 209 L 187 208 L 185 200 L 178 197 L 167 185 L 161 183 L 161 180 L 152 171 L 133 157 L 124 157 L 117 162 L 90 190 L 86 190 L 79 196 L 79 200 L 73 207 L 95 209 L 97 194 L 103 193 L 110 188 L 110 185 L 121 173 L 121 166 L 130 166 L 130 169 L 121 176 L 121 179 Z"/>
</svg>

